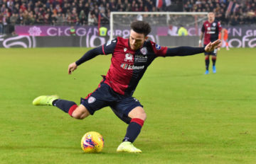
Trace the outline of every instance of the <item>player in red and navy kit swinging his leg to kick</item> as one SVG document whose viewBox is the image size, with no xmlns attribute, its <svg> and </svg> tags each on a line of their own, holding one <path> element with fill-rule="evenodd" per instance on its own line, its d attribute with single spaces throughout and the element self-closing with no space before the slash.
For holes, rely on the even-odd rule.
<svg viewBox="0 0 256 164">
<path fill-rule="evenodd" d="M 99 54 L 112 54 L 110 69 L 103 76 L 98 88 L 81 98 L 80 105 L 63 100 L 56 95 L 41 95 L 33 100 L 33 105 L 53 105 L 67 112 L 75 119 L 84 119 L 93 115 L 102 107 L 110 106 L 114 114 L 128 124 L 127 132 L 117 152 L 141 153 L 132 144 L 139 135 L 146 113 L 142 104 L 132 97 L 139 80 L 147 67 L 156 57 L 187 56 L 203 52 L 211 52 L 220 44 L 220 40 L 209 43 L 206 47 L 167 48 L 147 40 L 151 31 L 149 23 L 135 21 L 131 24 L 128 39 L 117 37 L 105 45 L 90 49 L 78 61 L 68 66 L 68 74 L 72 74 L 80 64 Z"/>
</svg>

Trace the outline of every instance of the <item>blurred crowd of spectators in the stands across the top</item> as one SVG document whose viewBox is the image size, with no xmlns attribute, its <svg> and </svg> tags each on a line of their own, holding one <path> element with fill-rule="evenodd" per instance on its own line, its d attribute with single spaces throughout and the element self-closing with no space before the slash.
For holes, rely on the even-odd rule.
<svg viewBox="0 0 256 164">
<path fill-rule="evenodd" d="M 230 1 L 234 5 L 227 13 Z M 255 4 L 256 0 L 171 0 L 171 6 L 156 8 L 156 0 L 0 0 L 0 33 L 14 31 L 14 25 L 108 24 L 111 11 L 214 11 L 224 25 L 250 25 L 256 22 Z"/>
</svg>

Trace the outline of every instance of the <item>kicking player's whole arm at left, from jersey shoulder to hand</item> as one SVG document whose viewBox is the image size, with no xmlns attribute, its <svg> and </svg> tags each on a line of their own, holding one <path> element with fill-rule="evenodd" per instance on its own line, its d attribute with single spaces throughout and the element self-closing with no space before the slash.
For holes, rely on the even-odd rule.
<svg viewBox="0 0 256 164">
<path fill-rule="evenodd" d="M 68 66 L 68 74 L 72 74 L 78 66 L 85 61 L 88 61 L 94 57 L 97 57 L 99 54 L 112 54 L 114 52 L 114 47 L 117 45 L 117 39 L 110 40 L 106 44 L 96 47 L 94 49 L 90 49 L 87 51 L 78 61 L 75 61 Z"/>
</svg>

